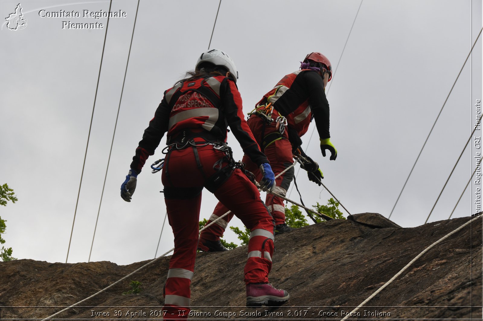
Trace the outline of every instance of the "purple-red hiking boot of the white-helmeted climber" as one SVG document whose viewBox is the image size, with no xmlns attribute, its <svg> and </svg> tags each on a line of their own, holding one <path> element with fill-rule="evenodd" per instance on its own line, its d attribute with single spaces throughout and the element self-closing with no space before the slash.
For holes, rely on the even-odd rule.
<svg viewBox="0 0 483 321">
<path fill-rule="evenodd" d="M 270 283 L 250 283 L 246 285 L 246 306 L 280 306 L 288 301 L 288 292 L 277 290 Z"/>
</svg>

